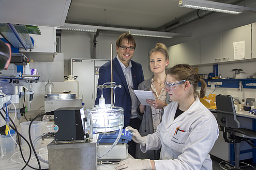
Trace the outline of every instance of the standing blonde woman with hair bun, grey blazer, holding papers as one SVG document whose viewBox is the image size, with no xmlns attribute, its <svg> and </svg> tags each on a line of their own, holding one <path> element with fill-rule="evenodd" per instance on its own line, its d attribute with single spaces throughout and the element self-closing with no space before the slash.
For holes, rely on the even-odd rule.
<svg viewBox="0 0 256 170">
<path fill-rule="evenodd" d="M 164 81 L 166 80 L 165 69 L 169 64 L 167 47 L 158 43 L 149 52 L 149 66 L 154 73 L 152 77 L 140 83 L 138 90 L 153 91 L 156 101 L 147 99 L 150 106 L 140 104 L 138 107 L 138 117 L 141 119 L 139 132 L 142 136 L 152 134 L 156 131 L 161 122 L 163 108 L 170 103 L 170 97 L 165 91 Z M 138 145 L 139 148 L 139 145 Z M 136 158 L 157 160 L 160 156 L 159 150 L 150 150 L 143 153 L 140 149 L 136 150 Z"/>
</svg>

